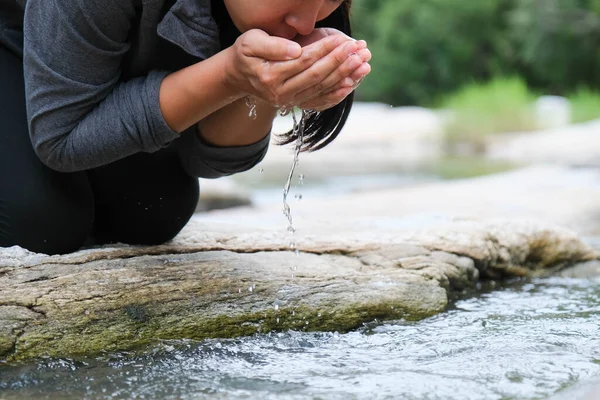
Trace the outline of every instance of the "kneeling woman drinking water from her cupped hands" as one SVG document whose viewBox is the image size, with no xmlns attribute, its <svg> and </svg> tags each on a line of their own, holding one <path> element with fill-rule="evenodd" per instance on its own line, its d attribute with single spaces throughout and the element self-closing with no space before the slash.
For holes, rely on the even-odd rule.
<svg viewBox="0 0 600 400">
<path fill-rule="evenodd" d="M 321 111 L 305 149 L 330 143 L 370 71 L 365 43 L 341 32 L 350 34 L 349 8 L 4 0 L 0 247 L 60 254 L 90 237 L 172 239 L 194 212 L 196 178 L 257 164 L 281 106 Z"/>
</svg>

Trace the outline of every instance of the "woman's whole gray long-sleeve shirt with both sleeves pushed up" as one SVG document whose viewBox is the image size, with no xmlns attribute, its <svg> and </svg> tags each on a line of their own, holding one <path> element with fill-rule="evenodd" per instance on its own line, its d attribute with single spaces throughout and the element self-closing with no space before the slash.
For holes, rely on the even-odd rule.
<svg viewBox="0 0 600 400">
<path fill-rule="evenodd" d="M 16 52 L 19 22 L 29 133 L 49 167 L 85 170 L 174 146 L 190 175 L 215 178 L 266 154 L 269 135 L 209 146 L 194 128 L 173 131 L 160 110 L 162 80 L 221 48 L 210 0 L 1 0 L 0 43 Z"/>
</svg>

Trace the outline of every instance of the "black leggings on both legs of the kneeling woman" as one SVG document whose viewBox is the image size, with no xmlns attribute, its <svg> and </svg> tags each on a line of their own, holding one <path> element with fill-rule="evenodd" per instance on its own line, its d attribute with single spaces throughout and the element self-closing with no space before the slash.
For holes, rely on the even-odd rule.
<svg viewBox="0 0 600 400">
<path fill-rule="evenodd" d="M 199 187 L 172 150 L 53 171 L 29 140 L 23 82 L 22 60 L 0 45 L 0 247 L 63 254 L 92 236 L 94 243 L 154 245 L 179 233 Z"/>
</svg>

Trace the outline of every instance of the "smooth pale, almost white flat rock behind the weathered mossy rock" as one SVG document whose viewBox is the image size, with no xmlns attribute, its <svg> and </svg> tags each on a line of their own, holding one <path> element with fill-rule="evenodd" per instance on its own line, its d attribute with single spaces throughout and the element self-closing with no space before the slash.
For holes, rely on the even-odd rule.
<svg viewBox="0 0 600 400">
<path fill-rule="evenodd" d="M 312 232 L 320 237 L 354 232 L 384 240 L 399 232 L 435 229 L 471 218 L 537 219 L 585 236 L 597 236 L 600 229 L 600 171 L 595 168 L 539 165 L 398 189 L 326 198 L 305 195 L 301 201 L 294 199 L 295 190 L 289 202 L 300 238 Z M 281 195 L 277 195 L 271 204 L 212 212 L 198 216 L 198 221 L 284 232 L 287 222 L 282 208 Z"/>
</svg>

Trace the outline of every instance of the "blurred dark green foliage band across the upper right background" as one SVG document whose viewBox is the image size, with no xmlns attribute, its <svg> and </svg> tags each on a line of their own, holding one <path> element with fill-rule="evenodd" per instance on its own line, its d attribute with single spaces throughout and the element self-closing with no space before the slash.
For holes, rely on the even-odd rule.
<svg viewBox="0 0 600 400">
<path fill-rule="evenodd" d="M 353 0 L 373 72 L 358 99 L 431 105 L 496 76 L 547 94 L 600 88 L 600 0 Z"/>
</svg>

